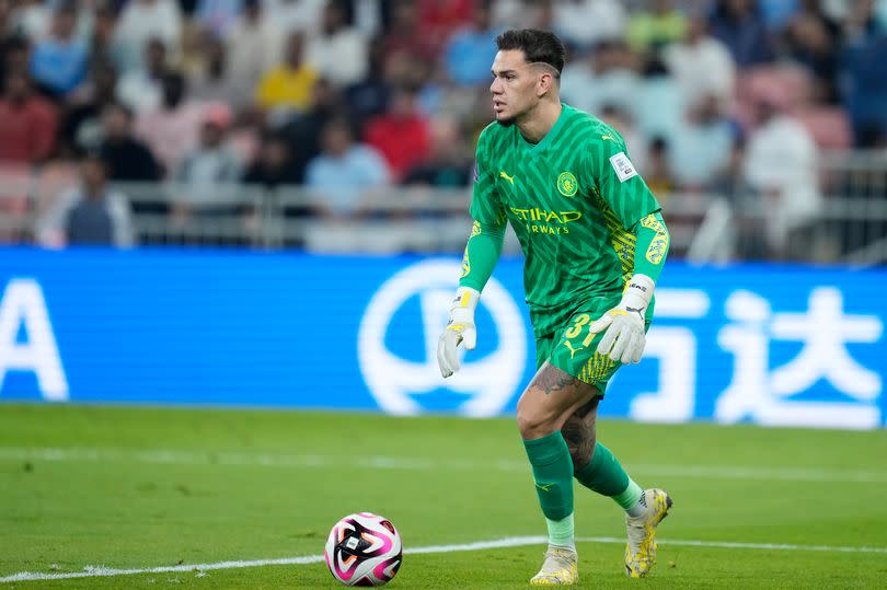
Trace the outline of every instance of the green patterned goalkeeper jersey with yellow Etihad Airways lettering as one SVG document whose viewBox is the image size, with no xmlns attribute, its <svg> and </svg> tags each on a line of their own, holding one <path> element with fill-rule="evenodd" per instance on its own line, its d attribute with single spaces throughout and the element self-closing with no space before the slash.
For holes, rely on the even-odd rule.
<svg viewBox="0 0 887 590">
<path fill-rule="evenodd" d="M 471 216 L 483 227 L 511 223 L 537 334 L 555 327 L 542 317 L 596 297 L 619 300 L 634 264 L 631 230 L 659 209 L 622 137 L 587 113 L 564 104 L 537 144 L 514 125 L 481 134 Z"/>
</svg>

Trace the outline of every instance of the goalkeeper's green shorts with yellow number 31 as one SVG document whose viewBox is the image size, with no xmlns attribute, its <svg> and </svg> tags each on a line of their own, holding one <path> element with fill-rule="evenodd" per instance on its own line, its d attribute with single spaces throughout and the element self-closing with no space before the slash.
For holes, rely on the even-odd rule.
<svg viewBox="0 0 887 590">
<path fill-rule="evenodd" d="M 576 308 L 560 331 L 537 337 L 537 369 L 548 360 L 579 381 L 596 386 L 598 395 L 602 396 L 622 363 L 597 352 L 604 333 L 591 334 L 588 328 L 612 308 L 613 302 L 609 298 L 591 299 Z M 649 320 L 644 323 L 644 331 L 647 329 Z"/>
</svg>

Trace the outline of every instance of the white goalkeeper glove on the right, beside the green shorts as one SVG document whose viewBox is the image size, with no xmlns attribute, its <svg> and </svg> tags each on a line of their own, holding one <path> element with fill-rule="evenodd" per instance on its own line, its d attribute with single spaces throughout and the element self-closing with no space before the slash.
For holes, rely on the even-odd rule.
<svg viewBox="0 0 887 590">
<path fill-rule="evenodd" d="M 623 365 L 641 361 L 647 340 L 644 320 L 656 284 L 648 276 L 634 275 L 619 305 L 591 324 L 589 329 L 596 334 L 607 331 L 598 344 L 598 354 Z"/>
</svg>

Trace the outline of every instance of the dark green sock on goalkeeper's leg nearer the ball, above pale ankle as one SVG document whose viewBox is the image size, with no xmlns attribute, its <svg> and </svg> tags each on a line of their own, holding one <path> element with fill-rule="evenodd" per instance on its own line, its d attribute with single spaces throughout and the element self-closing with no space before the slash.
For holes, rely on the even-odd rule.
<svg viewBox="0 0 887 590">
<path fill-rule="evenodd" d="M 561 431 L 541 439 L 525 440 L 533 467 L 535 493 L 549 520 L 561 521 L 573 513 L 573 459 Z"/>
</svg>

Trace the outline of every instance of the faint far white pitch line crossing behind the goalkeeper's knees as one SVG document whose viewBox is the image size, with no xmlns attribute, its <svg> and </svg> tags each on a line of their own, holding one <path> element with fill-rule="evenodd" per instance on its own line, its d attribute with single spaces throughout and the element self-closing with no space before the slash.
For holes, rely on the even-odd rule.
<svg viewBox="0 0 887 590">
<path fill-rule="evenodd" d="M 434 461 L 401 456 L 331 456 L 291 455 L 272 453 L 206 453 L 174 449 L 108 449 L 108 448 L 24 448 L 0 447 L 0 460 L 14 461 L 70 461 L 105 462 L 125 461 L 137 463 L 174 465 L 237 465 L 263 467 L 342 467 L 401 470 L 401 471 L 500 471 L 527 473 L 529 466 L 523 461 Z M 838 482 L 885 484 L 887 472 L 842 471 L 804 467 L 757 467 L 739 465 L 632 465 L 632 473 L 661 477 L 703 477 L 713 479 L 765 479 L 780 482 Z"/>
</svg>

